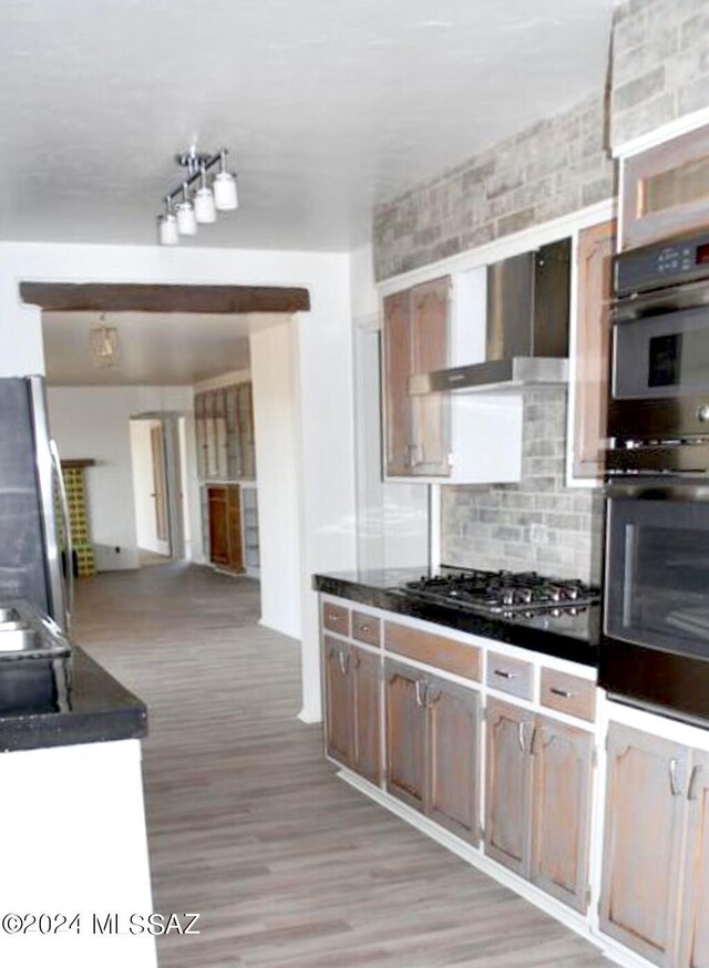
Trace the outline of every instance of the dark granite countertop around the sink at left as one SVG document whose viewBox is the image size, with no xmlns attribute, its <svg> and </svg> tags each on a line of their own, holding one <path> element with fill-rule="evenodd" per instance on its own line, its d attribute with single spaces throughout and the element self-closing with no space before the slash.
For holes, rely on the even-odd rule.
<svg viewBox="0 0 709 968">
<path fill-rule="evenodd" d="M 61 657 L 0 661 L 0 752 L 146 732 L 145 704 L 78 646 Z"/>
</svg>

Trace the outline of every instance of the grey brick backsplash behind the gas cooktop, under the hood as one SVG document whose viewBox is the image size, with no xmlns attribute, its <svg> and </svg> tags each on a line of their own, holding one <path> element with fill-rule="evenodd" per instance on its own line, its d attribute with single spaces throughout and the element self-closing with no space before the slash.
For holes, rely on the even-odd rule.
<svg viewBox="0 0 709 968">
<path fill-rule="evenodd" d="M 442 488 L 442 560 L 598 581 L 600 492 L 565 484 L 565 387 L 524 391 L 520 484 Z"/>
</svg>

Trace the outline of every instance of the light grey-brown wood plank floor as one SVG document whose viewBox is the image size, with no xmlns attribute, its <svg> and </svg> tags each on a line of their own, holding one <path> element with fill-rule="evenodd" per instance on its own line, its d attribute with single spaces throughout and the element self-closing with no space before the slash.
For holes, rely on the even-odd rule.
<svg viewBox="0 0 709 968">
<path fill-rule="evenodd" d="M 602 968 L 590 945 L 335 776 L 258 587 L 169 565 L 79 583 L 75 638 L 150 708 L 162 968 Z"/>
</svg>

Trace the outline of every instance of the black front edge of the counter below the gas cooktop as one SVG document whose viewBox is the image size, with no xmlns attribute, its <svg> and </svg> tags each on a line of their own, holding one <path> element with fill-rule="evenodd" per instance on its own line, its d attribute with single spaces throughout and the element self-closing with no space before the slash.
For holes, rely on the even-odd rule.
<svg viewBox="0 0 709 968">
<path fill-rule="evenodd" d="M 371 608 L 381 608 L 398 615 L 408 615 L 422 621 L 431 621 L 459 631 L 517 646 L 532 652 L 566 659 L 592 668 L 598 667 L 597 642 L 583 641 L 546 629 L 514 625 L 495 616 L 476 615 L 458 608 L 414 599 L 402 591 L 374 588 L 357 581 L 328 575 L 314 575 L 312 587 L 323 595 L 347 598 Z"/>
</svg>

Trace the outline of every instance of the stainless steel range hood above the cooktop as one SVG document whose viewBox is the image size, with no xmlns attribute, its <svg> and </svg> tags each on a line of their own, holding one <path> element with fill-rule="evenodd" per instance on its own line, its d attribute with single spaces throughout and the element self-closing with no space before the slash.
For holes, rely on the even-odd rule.
<svg viewBox="0 0 709 968">
<path fill-rule="evenodd" d="M 565 383 L 569 278 L 571 239 L 490 266 L 485 362 L 417 373 L 409 392 L 499 392 Z"/>
</svg>

